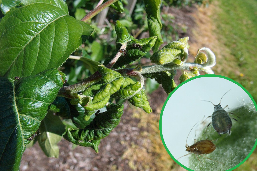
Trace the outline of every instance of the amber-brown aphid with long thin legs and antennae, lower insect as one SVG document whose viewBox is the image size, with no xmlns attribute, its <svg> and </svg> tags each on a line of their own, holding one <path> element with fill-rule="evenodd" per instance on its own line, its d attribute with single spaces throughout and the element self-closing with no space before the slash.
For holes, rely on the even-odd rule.
<svg viewBox="0 0 257 171">
<path fill-rule="evenodd" d="M 198 122 L 197 122 L 198 123 Z M 196 124 L 197 124 L 196 123 Z M 196 125 L 195 124 L 195 125 Z M 195 126 L 194 125 L 194 126 Z M 194 128 L 194 126 L 193 126 L 193 128 Z M 193 129 L 192 128 L 192 129 Z M 190 130 L 190 132 L 192 131 L 192 129 Z M 189 134 L 190 134 L 190 132 L 188 133 L 188 136 L 189 136 Z M 186 155 L 184 155 L 184 156 L 187 156 L 187 155 L 189 155 L 189 154 L 191 154 L 191 153 L 194 153 L 195 155 L 196 155 L 196 157 L 197 157 L 197 159 L 199 160 L 199 162 L 202 164 L 202 162 L 200 161 L 200 159 L 198 158 L 198 156 L 197 155 L 200 155 L 200 156 L 202 156 L 202 157 L 204 157 L 204 158 L 207 158 L 207 159 L 209 159 L 209 160 L 213 160 L 213 159 L 211 159 L 211 158 L 208 158 L 208 157 L 205 157 L 205 156 L 203 156 L 203 154 L 210 154 L 211 152 L 213 152 L 215 149 L 216 149 L 216 146 L 215 146 L 215 144 L 213 144 L 212 143 L 212 141 L 216 141 L 216 140 L 200 140 L 200 141 L 197 141 L 196 139 L 194 139 L 194 144 L 193 145 L 191 145 L 191 146 L 189 146 L 188 144 L 187 144 L 187 139 L 188 139 L 188 136 L 187 136 L 187 138 L 186 138 L 186 151 L 188 151 L 188 152 L 190 152 L 190 153 L 188 153 L 188 154 L 186 154 Z M 184 156 L 181 156 L 181 157 L 184 157 Z M 181 158 L 180 157 L 180 158 Z M 179 158 L 178 158 L 179 159 Z M 213 161 L 215 161 L 215 162 L 218 162 L 218 161 L 216 161 L 216 160 L 213 160 Z M 221 162 L 218 162 L 218 163 L 221 163 Z M 221 163 L 221 164 L 223 164 L 223 163 Z M 202 166 L 203 166 L 203 164 L 202 164 Z"/>
</svg>

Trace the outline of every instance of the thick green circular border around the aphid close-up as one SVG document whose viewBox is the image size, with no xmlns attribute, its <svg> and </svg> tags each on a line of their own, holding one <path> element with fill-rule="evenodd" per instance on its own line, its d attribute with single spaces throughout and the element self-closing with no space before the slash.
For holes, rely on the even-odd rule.
<svg viewBox="0 0 257 171">
<path fill-rule="evenodd" d="M 238 82 L 232 80 L 231 78 L 228 78 L 228 77 L 225 77 L 225 76 L 221 76 L 221 75 L 215 75 L 215 74 L 212 74 L 212 75 L 200 75 L 200 76 L 195 76 L 195 77 L 192 77 L 184 82 L 182 82 L 181 84 L 179 84 L 167 97 L 167 99 L 165 100 L 163 106 L 162 106 L 162 110 L 161 110 L 161 113 L 160 113 L 160 125 L 159 125 L 159 130 L 160 130 L 160 137 L 162 139 L 162 144 L 164 145 L 166 151 L 168 152 L 168 154 L 170 155 L 170 157 L 177 163 L 179 164 L 182 168 L 186 169 L 186 170 L 190 170 L 190 171 L 194 171 L 190 168 L 187 168 L 186 166 L 184 166 L 183 164 L 181 164 L 178 160 L 176 160 L 176 158 L 174 158 L 174 156 L 172 156 L 172 154 L 170 153 L 170 151 L 168 150 L 165 142 L 164 142 L 164 139 L 163 139 L 163 135 L 162 135 L 162 115 L 163 115 L 163 111 L 164 111 L 164 108 L 168 102 L 168 100 L 170 99 L 171 95 L 179 88 L 181 87 L 182 85 L 186 84 L 187 82 L 191 81 L 191 80 L 194 80 L 194 79 L 197 79 L 197 78 L 202 78 L 202 77 L 219 77 L 219 78 L 223 78 L 223 79 L 226 79 L 228 81 L 231 81 L 233 83 L 235 83 L 236 85 L 238 85 L 239 87 L 241 87 L 247 94 L 248 96 L 252 99 L 252 102 L 254 103 L 254 106 L 255 106 L 255 109 L 257 109 L 257 105 L 256 105 L 256 102 L 254 101 L 252 95 L 241 85 L 239 84 Z M 252 152 L 254 151 L 254 149 L 256 148 L 256 145 L 257 145 L 257 139 L 255 141 L 255 144 L 252 148 L 252 150 L 250 151 L 250 153 L 246 156 L 246 158 L 244 158 L 244 160 L 242 160 L 240 163 L 238 163 L 236 166 L 234 166 L 233 168 L 230 168 L 228 169 L 227 171 L 231 171 L 231 170 L 234 170 L 235 168 L 238 168 L 241 164 L 243 164 L 249 157 L 250 155 L 252 154 Z"/>
</svg>

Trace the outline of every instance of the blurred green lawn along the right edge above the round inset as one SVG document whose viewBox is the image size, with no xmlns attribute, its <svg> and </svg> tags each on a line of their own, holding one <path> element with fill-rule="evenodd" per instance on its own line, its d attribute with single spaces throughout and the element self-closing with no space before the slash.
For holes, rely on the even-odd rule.
<svg viewBox="0 0 257 171">
<path fill-rule="evenodd" d="M 217 60 L 223 69 L 216 74 L 239 82 L 257 100 L 257 1 L 218 0 L 217 4 L 212 19 L 224 60 Z"/>
</svg>

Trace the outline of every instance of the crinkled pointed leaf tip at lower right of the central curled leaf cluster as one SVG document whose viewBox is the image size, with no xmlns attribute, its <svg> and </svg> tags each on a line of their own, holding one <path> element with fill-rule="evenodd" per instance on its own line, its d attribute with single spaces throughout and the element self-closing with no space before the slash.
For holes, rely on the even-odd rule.
<svg viewBox="0 0 257 171">
<path fill-rule="evenodd" d="M 144 89 L 141 89 L 139 93 L 128 99 L 128 101 L 141 109 L 143 109 L 146 113 L 151 113 L 152 109 L 147 101 L 146 95 L 144 94 Z"/>
</svg>

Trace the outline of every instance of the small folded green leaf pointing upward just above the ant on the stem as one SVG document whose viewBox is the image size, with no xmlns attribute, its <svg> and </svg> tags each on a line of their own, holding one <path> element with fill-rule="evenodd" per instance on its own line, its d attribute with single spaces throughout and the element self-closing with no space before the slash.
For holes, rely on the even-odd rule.
<svg viewBox="0 0 257 171">
<path fill-rule="evenodd" d="M 124 27 L 119 20 L 116 21 L 115 31 L 117 34 L 116 43 L 126 44 L 128 41 L 133 40 L 134 37 L 130 36 L 126 27 Z"/>
</svg>

